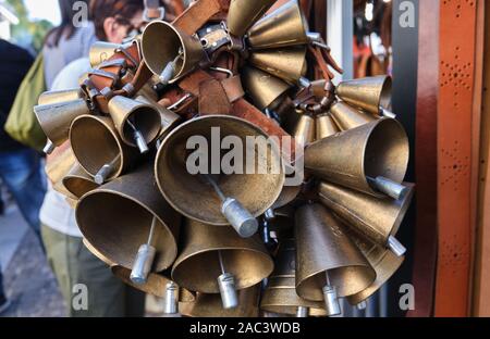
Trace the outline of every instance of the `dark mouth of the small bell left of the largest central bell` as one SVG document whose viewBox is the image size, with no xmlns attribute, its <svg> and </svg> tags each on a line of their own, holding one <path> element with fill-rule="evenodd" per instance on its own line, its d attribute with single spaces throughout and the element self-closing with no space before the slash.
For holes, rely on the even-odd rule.
<svg viewBox="0 0 490 339">
<path fill-rule="evenodd" d="M 156 109 L 149 105 L 143 105 L 134 110 L 126 117 L 126 122 L 122 131 L 122 139 L 125 143 L 136 147 L 134 141 L 134 129 L 130 126 L 127 121 L 131 121 L 134 126 L 142 133 L 146 143 L 152 142 L 157 139 L 161 129 L 161 115 Z"/>
</svg>

